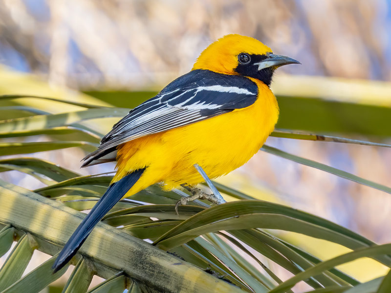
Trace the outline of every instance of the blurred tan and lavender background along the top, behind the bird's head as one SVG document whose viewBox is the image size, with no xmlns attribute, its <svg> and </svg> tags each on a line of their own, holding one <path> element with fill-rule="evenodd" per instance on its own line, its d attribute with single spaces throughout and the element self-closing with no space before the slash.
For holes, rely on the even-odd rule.
<svg viewBox="0 0 391 293">
<path fill-rule="evenodd" d="M 304 64 L 289 74 L 387 81 L 390 14 L 389 0 L 3 0 L 0 62 L 75 89 L 134 89 L 239 33 Z"/>
</svg>

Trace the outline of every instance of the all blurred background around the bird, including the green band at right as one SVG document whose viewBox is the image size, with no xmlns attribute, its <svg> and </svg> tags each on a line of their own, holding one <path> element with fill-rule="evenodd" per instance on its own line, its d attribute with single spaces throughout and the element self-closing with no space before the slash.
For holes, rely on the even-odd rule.
<svg viewBox="0 0 391 293">
<path fill-rule="evenodd" d="M 385 143 L 391 142 L 390 32 L 391 0 L 0 1 L 0 63 L 53 88 L 84 91 L 116 106 L 128 105 L 128 93 L 138 92 L 138 103 L 188 72 L 211 42 L 238 33 L 303 63 L 284 66 L 275 76 L 279 128 L 289 122 L 297 130 Z M 313 104 L 304 109 L 303 100 Z M 357 107 L 360 116 L 349 117 Z M 267 144 L 391 186 L 389 148 L 274 137 Z M 84 155 L 67 149 L 66 155 L 38 156 L 84 174 L 114 167 L 80 171 L 66 162 L 69 152 Z M 0 176 L 40 186 L 14 171 Z M 375 242 L 391 241 L 391 196 L 382 191 L 262 151 L 218 181 L 325 217 Z M 323 258 L 343 252 L 327 245 L 312 252 Z M 377 269 L 368 276 L 349 268 L 363 280 L 384 273 Z"/>
</svg>

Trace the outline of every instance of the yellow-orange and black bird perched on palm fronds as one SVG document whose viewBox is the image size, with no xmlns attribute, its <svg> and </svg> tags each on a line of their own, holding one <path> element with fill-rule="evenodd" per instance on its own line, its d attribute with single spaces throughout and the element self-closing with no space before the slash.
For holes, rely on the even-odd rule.
<svg viewBox="0 0 391 293">
<path fill-rule="evenodd" d="M 211 184 L 210 178 L 242 166 L 261 148 L 279 117 L 270 89 L 273 73 L 295 63 L 301 64 L 252 37 L 226 35 L 201 52 L 190 72 L 130 110 L 83 159 L 82 167 L 116 161 L 116 174 L 66 242 L 53 272 L 120 199 L 152 184 L 164 190 L 187 187 L 193 196 L 180 204 L 195 198 L 224 202 L 196 185 Z"/>
</svg>

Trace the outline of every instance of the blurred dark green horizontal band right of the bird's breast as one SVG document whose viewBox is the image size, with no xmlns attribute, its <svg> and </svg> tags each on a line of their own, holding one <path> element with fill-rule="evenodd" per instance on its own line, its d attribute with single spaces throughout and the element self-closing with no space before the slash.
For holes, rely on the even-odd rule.
<svg viewBox="0 0 391 293">
<path fill-rule="evenodd" d="M 305 77 L 305 87 L 308 77 Z M 280 79 L 280 82 L 282 79 Z M 328 82 L 328 81 L 327 81 Z M 304 81 L 300 85 L 302 91 Z M 313 83 L 318 87 L 319 83 Z M 345 84 L 348 89 L 351 84 Z M 329 99 L 329 88 L 324 87 L 325 92 L 317 89 L 316 95 L 303 97 L 292 94 L 291 86 L 284 85 L 285 92 L 289 90 L 289 96 L 282 96 L 276 93 L 280 107 L 280 116 L 276 127 L 278 129 L 293 129 L 308 131 L 313 133 L 336 133 L 346 135 L 347 133 L 390 137 L 391 128 L 390 117 L 391 108 L 384 105 L 364 105 L 356 103 L 347 103 Z M 335 86 L 340 89 L 340 86 Z M 351 89 L 348 91 L 350 92 Z M 369 91 L 370 92 L 370 91 Z M 385 91 L 385 94 L 387 91 Z M 320 99 L 319 94 L 325 95 L 325 99 Z M 368 97 L 372 98 L 372 92 Z M 356 96 L 350 96 L 350 99 L 357 100 Z"/>
</svg>

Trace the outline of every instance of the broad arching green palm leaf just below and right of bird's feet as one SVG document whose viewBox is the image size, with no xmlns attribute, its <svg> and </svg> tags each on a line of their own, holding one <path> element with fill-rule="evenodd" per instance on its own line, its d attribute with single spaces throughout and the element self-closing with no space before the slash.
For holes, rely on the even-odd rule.
<svg viewBox="0 0 391 293">
<path fill-rule="evenodd" d="M 289 230 L 325 239 L 350 249 L 374 245 L 351 230 L 309 213 L 260 200 L 229 202 L 205 209 L 167 232 L 154 244 L 164 250 L 186 243 L 195 236 L 219 231 L 247 228 Z M 389 257 L 379 257 L 390 264 Z"/>
</svg>

